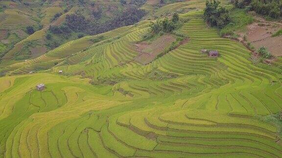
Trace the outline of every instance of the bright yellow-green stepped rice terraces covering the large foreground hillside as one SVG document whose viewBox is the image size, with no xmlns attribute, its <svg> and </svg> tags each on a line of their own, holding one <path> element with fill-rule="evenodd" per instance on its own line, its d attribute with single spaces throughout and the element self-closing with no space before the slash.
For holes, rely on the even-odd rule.
<svg viewBox="0 0 282 158">
<path fill-rule="evenodd" d="M 282 111 L 282 59 L 254 64 L 207 25 L 205 3 L 157 9 L 186 9 L 178 34 L 187 39 L 150 62 L 139 60 L 150 49 L 138 49 L 150 19 L 1 62 L 0 158 L 282 158 L 281 123 L 271 119 Z"/>
</svg>

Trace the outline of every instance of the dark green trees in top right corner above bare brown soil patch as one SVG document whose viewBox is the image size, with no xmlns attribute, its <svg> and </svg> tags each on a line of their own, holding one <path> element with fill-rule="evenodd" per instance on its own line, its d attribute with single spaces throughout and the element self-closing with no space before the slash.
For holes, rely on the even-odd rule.
<svg viewBox="0 0 282 158">
<path fill-rule="evenodd" d="M 282 0 L 252 0 L 251 6 L 261 15 L 274 19 L 282 16 Z"/>
</svg>

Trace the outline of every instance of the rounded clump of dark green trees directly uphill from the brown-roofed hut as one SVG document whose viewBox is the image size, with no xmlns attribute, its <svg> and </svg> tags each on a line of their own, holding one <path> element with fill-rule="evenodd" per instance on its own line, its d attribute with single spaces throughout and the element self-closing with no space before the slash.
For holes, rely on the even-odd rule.
<svg viewBox="0 0 282 158">
<path fill-rule="evenodd" d="M 205 20 L 211 25 L 217 28 L 223 28 L 230 22 L 229 10 L 219 6 L 220 1 L 206 1 L 206 8 L 204 17 Z"/>
</svg>

